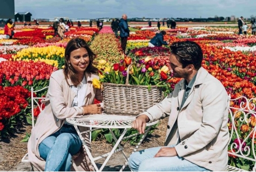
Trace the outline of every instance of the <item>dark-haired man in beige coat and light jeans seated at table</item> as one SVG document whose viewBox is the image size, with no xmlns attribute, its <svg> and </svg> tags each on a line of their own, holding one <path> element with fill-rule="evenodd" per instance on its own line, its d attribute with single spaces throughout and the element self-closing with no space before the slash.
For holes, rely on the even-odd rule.
<svg viewBox="0 0 256 172">
<path fill-rule="evenodd" d="M 184 78 L 173 92 L 137 116 L 132 127 L 144 133 L 146 122 L 169 116 L 165 147 L 133 153 L 133 171 L 225 171 L 228 146 L 228 96 L 221 82 L 203 67 L 194 42 L 170 46 L 170 70 Z"/>
</svg>

